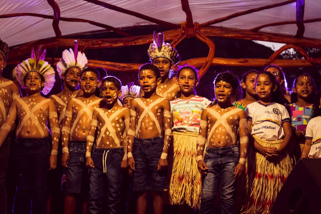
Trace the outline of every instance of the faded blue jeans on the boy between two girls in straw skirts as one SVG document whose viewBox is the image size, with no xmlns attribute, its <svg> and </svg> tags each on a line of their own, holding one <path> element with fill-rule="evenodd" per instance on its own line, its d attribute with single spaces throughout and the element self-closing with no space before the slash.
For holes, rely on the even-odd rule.
<svg viewBox="0 0 321 214">
<path fill-rule="evenodd" d="M 221 213 L 234 213 L 236 179 L 234 168 L 239 163 L 239 147 L 232 145 L 205 150 L 204 162 L 208 167 L 202 181 L 200 214 L 213 213 L 213 203 L 220 184 Z"/>
</svg>

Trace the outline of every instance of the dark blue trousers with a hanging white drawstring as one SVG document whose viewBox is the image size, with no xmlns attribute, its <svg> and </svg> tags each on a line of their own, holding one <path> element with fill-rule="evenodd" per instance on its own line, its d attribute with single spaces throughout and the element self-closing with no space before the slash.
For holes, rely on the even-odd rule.
<svg viewBox="0 0 321 214">
<path fill-rule="evenodd" d="M 123 147 L 93 148 L 91 158 L 95 167 L 89 170 L 89 213 L 102 213 L 104 205 L 107 206 L 106 213 L 121 213 L 120 192 L 123 175 L 120 165 L 124 154 Z"/>
</svg>

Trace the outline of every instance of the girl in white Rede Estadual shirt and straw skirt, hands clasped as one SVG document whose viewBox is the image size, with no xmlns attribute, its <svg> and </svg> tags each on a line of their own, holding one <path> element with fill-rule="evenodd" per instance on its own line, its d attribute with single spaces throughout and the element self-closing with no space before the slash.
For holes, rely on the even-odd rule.
<svg viewBox="0 0 321 214">
<path fill-rule="evenodd" d="M 275 75 L 259 73 L 256 94 L 259 101 L 246 109 L 254 147 L 247 158 L 247 196 L 243 211 L 267 214 L 271 213 L 274 200 L 292 170 L 287 148 L 292 132 L 287 110 L 276 103 L 283 94 Z"/>
</svg>

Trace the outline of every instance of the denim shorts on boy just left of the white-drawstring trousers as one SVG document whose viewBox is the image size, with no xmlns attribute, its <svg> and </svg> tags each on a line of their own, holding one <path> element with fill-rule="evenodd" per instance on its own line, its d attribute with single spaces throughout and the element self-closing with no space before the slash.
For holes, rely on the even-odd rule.
<svg viewBox="0 0 321 214">
<path fill-rule="evenodd" d="M 65 193 L 88 194 L 89 177 L 86 168 L 86 142 L 70 141 L 69 163 L 66 169 L 66 191 Z"/>
</svg>

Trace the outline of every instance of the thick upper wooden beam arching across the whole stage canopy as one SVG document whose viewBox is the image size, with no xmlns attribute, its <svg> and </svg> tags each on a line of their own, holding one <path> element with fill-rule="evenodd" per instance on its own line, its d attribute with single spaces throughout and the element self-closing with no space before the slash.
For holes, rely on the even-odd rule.
<svg viewBox="0 0 321 214">
<path fill-rule="evenodd" d="M 200 29 L 202 35 L 206 37 L 223 37 L 223 38 L 233 38 L 233 39 L 247 39 L 247 40 L 259 40 L 259 41 L 270 41 L 279 42 L 286 44 L 294 44 L 302 47 L 314 47 L 321 48 L 320 39 L 310 39 L 310 38 L 294 38 L 289 35 L 264 33 L 264 32 L 251 32 L 248 30 L 230 29 L 230 28 L 217 28 L 217 27 L 203 27 Z M 193 28 L 187 28 L 186 37 L 195 37 L 193 33 Z M 167 41 L 172 41 L 177 39 L 180 33 L 179 29 L 164 31 L 165 39 Z M 92 39 L 77 39 L 79 45 L 84 45 L 87 42 L 92 41 Z M 97 40 L 96 40 L 97 41 Z M 102 42 L 100 45 L 91 45 L 87 48 L 90 49 L 100 49 L 100 48 L 110 48 L 110 47 L 126 47 L 132 45 L 143 45 L 150 44 L 153 42 L 152 35 L 146 36 L 134 36 L 128 38 L 120 39 L 100 39 Z M 19 58 L 22 55 L 29 54 L 32 47 L 43 45 L 45 48 L 69 48 L 74 46 L 74 39 L 40 39 L 37 41 L 29 42 L 20 47 L 16 47 L 10 50 L 10 58 Z"/>
</svg>

